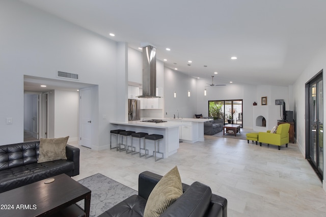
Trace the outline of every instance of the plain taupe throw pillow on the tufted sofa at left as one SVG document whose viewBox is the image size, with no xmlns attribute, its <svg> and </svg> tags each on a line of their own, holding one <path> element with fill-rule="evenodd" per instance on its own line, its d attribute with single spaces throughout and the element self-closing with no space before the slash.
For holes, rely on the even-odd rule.
<svg viewBox="0 0 326 217">
<path fill-rule="evenodd" d="M 40 139 L 40 154 L 37 163 L 67 159 L 66 144 L 69 136 L 55 139 Z"/>
</svg>

